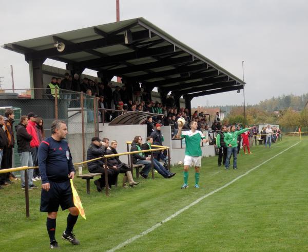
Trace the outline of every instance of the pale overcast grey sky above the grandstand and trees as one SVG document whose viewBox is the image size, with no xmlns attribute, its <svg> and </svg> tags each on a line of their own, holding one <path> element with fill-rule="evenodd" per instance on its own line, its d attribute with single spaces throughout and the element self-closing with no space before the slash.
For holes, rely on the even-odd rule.
<svg viewBox="0 0 308 252">
<path fill-rule="evenodd" d="M 0 0 L 0 6 L 0 45 L 115 21 L 115 0 Z M 121 20 L 144 17 L 240 79 L 244 61 L 246 104 L 308 93 L 307 13 L 305 0 L 120 0 Z M 15 87 L 30 87 L 24 56 L 0 48 L 2 88 L 11 88 L 10 65 Z M 242 91 L 191 101 L 242 103 Z"/>
</svg>

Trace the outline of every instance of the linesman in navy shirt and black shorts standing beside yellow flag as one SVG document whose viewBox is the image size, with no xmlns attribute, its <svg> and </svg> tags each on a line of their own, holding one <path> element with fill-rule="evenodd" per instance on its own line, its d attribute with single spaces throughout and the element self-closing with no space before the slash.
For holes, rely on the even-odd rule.
<svg viewBox="0 0 308 252">
<path fill-rule="evenodd" d="M 41 212 L 47 212 L 47 231 L 50 248 L 59 245 L 55 240 L 55 220 L 59 206 L 68 208 L 67 227 L 62 238 L 71 244 L 79 241 L 73 235 L 73 227 L 78 219 L 79 210 L 74 206 L 69 179 L 75 176 L 72 156 L 66 138 L 67 127 L 64 121 L 55 120 L 51 124 L 51 137 L 46 138 L 38 147 L 38 167 L 42 178 Z"/>
</svg>

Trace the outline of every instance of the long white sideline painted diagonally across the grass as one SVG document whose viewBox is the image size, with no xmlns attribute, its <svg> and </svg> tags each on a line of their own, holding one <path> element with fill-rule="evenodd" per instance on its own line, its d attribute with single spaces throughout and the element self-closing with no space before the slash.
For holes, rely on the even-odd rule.
<svg viewBox="0 0 308 252">
<path fill-rule="evenodd" d="M 220 188 L 218 188 L 218 189 L 216 189 L 216 190 L 214 190 L 214 191 L 211 191 L 211 192 L 209 192 L 209 193 L 203 195 L 203 196 L 200 197 L 198 200 L 196 200 L 196 201 L 190 203 L 190 204 L 187 205 L 186 207 L 183 207 L 182 209 L 180 209 L 179 211 L 177 211 L 177 212 L 175 212 L 174 214 L 170 215 L 168 218 L 166 218 L 165 220 L 161 221 L 160 223 L 157 223 L 157 224 L 155 224 L 154 226 L 150 227 L 149 229 L 143 231 L 143 232 L 140 233 L 139 235 L 134 236 L 134 237 L 132 237 L 132 238 L 126 240 L 125 242 L 120 243 L 118 246 L 115 246 L 115 247 L 113 247 L 113 248 L 107 250 L 107 252 L 113 252 L 113 251 L 115 251 L 115 250 L 118 250 L 118 249 L 124 247 L 125 245 L 127 245 L 127 244 L 129 244 L 129 243 L 132 243 L 133 241 L 137 240 L 138 238 L 141 238 L 141 237 L 147 235 L 149 232 L 151 232 L 151 231 L 155 230 L 156 228 L 160 227 L 160 226 L 163 225 L 165 222 L 170 221 L 170 220 L 172 220 L 173 218 L 177 217 L 180 213 L 184 212 L 184 211 L 187 210 L 188 208 L 190 208 L 190 207 L 192 207 L 192 206 L 195 206 L 196 204 L 198 204 L 200 201 L 202 201 L 202 200 L 205 199 L 206 197 L 208 197 L 208 196 L 210 196 L 210 195 L 212 195 L 212 194 L 214 194 L 214 193 L 216 193 L 216 192 L 218 192 L 218 191 L 220 191 L 220 190 L 222 190 L 222 189 L 228 187 L 229 185 L 231 185 L 231 184 L 233 184 L 234 182 L 236 182 L 238 179 L 242 178 L 243 176 L 248 175 L 248 174 L 251 173 L 253 170 L 259 168 L 260 166 L 264 165 L 264 164 L 267 163 L 268 161 L 271 161 L 273 158 L 279 156 L 280 154 L 282 154 L 283 152 L 287 151 L 288 149 L 293 148 L 294 146 L 298 145 L 298 143 L 300 143 L 300 142 L 301 142 L 301 141 L 295 143 L 293 146 L 288 147 L 288 148 L 285 149 L 284 151 L 279 152 L 279 153 L 276 154 L 275 156 L 273 156 L 273 157 L 271 157 L 271 158 L 265 160 L 265 161 L 264 161 L 263 163 L 261 163 L 260 165 L 257 165 L 256 167 L 254 167 L 254 168 L 252 168 L 252 169 L 246 171 L 244 174 L 242 174 L 242 175 L 236 177 L 235 179 L 233 179 L 232 181 L 228 182 L 228 183 L 225 184 L 224 186 L 222 186 L 222 187 L 220 187 Z"/>
</svg>

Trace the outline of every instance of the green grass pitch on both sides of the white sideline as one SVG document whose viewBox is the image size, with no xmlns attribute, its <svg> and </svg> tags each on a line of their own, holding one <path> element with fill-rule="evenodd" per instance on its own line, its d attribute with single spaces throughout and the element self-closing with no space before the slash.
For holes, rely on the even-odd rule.
<svg viewBox="0 0 308 252">
<path fill-rule="evenodd" d="M 68 212 L 58 213 L 56 238 L 62 251 L 105 251 L 139 235 L 199 197 L 214 191 L 263 161 L 294 145 L 297 137 L 284 137 L 272 149 L 252 148 L 238 157 L 238 170 L 217 166 L 217 157 L 202 159 L 200 189 L 181 190 L 182 167 L 177 175 L 141 180 L 129 189 L 112 188 L 110 197 L 85 181 L 74 179 L 87 220 L 79 218 L 74 233 L 81 245 L 61 239 Z M 308 250 L 308 141 L 268 161 L 232 185 L 164 223 L 118 251 L 306 251 Z M 232 166 L 231 166 L 232 167 Z M 119 177 L 119 184 L 122 176 Z M 38 182 L 36 183 L 38 184 Z M 0 249 L 45 251 L 49 239 L 46 214 L 39 212 L 40 190 L 30 191 L 30 219 L 25 218 L 24 191 L 17 182 L 0 191 Z"/>
</svg>

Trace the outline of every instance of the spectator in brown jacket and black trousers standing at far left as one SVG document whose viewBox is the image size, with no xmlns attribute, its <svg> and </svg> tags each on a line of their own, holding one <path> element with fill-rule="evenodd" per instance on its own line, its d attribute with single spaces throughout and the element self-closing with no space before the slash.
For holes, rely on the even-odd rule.
<svg viewBox="0 0 308 252">
<path fill-rule="evenodd" d="M 15 143 L 13 123 L 14 123 L 14 111 L 9 109 L 4 113 L 4 131 L 8 138 L 7 148 L 3 150 L 1 169 L 9 169 L 13 167 L 13 148 Z M 4 181 L 8 184 L 12 184 L 10 176 L 15 177 L 13 174 L 4 173 Z"/>
</svg>

